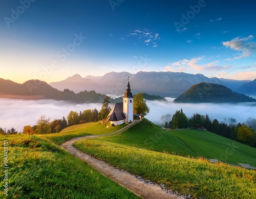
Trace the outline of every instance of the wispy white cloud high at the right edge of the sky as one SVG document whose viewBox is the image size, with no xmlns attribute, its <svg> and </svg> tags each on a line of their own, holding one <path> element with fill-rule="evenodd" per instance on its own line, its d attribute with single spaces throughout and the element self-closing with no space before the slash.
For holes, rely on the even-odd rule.
<svg viewBox="0 0 256 199">
<path fill-rule="evenodd" d="M 252 38 L 253 35 L 249 35 L 248 37 L 236 37 L 230 41 L 222 42 L 222 45 L 226 48 L 230 48 L 241 53 L 241 55 L 236 55 L 225 60 L 250 57 L 252 53 L 256 52 L 256 43 L 251 41 Z"/>
</svg>

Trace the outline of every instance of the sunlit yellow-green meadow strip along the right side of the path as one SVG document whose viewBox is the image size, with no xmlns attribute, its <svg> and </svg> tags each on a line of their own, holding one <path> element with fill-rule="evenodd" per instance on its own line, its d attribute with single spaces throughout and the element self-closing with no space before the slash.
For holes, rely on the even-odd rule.
<svg viewBox="0 0 256 199">
<path fill-rule="evenodd" d="M 119 169 L 193 197 L 256 198 L 255 171 L 101 139 L 80 140 L 75 147 Z"/>
</svg>

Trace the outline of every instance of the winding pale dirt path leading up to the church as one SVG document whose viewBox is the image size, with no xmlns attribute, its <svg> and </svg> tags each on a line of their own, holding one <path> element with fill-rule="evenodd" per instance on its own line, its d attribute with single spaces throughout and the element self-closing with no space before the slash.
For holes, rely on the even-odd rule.
<svg viewBox="0 0 256 199">
<path fill-rule="evenodd" d="M 137 122 L 129 124 L 126 127 L 122 128 L 116 132 L 113 132 L 112 134 L 73 138 L 69 141 L 62 143 L 61 146 L 65 150 L 67 150 L 71 154 L 73 154 L 73 156 L 76 156 L 77 158 L 79 158 L 83 161 L 86 161 L 93 168 L 95 168 L 96 170 L 101 172 L 103 175 L 107 176 L 108 178 L 117 182 L 119 185 L 134 192 L 136 195 L 138 195 L 142 198 L 148 198 L 148 199 L 150 199 L 150 198 L 152 198 L 152 199 L 184 198 L 180 195 L 170 193 L 170 192 L 162 189 L 159 185 L 145 183 L 144 181 L 137 179 L 135 175 L 128 173 L 126 171 L 114 168 L 113 166 L 111 166 L 103 161 L 97 160 L 97 159 L 89 156 L 88 154 L 79 151 L 74 146 L 72 146 L 72 144 L 78 140 L 119 134 L 123 130 L 130 128 L 131 126 L 135 125 L 136 123 Z"/>
</svg>

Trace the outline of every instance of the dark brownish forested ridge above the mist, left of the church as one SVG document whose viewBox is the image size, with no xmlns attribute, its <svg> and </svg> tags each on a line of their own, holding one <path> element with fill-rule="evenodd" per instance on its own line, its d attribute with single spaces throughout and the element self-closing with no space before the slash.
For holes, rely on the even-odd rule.
<svg viewBox="0 0 256 199">
<path fill-rule="evenodd" d="M 0 78 L 0 97 L 15 97 L 25 99 L 54 99 L 76 103 L 102 103 L 104 95 L 95 91 L 83 91 L 75 94 L 65 89 L 58 91 L 48 83 L 40 80 L 29 80 L 19 84 Z"/>
</svg>

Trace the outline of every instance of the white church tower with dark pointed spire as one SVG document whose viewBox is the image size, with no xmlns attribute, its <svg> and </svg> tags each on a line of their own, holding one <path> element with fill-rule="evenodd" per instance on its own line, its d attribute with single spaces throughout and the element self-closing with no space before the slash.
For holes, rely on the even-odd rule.
<svg viewBox="0 0 256 199">
<path fill-rule="evenodd" d="M 123 96 L 123 114 L 125 115 L 124 123 L 133 122 L 133 94 L 131 93 L 131 86 L 128 77 L 128 84 L 126 92 Z"/>
</svg>

